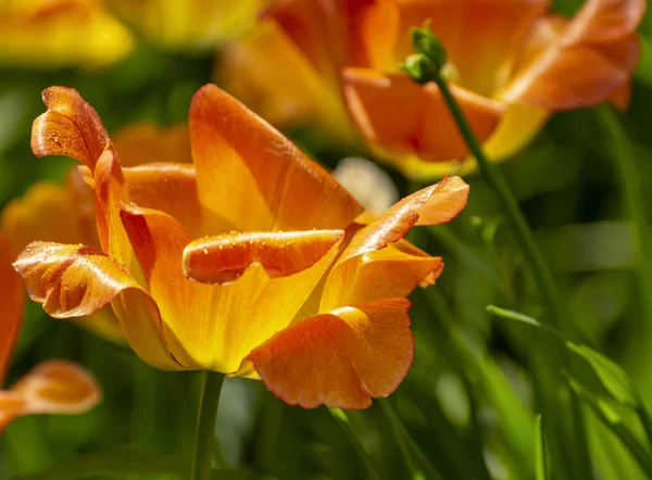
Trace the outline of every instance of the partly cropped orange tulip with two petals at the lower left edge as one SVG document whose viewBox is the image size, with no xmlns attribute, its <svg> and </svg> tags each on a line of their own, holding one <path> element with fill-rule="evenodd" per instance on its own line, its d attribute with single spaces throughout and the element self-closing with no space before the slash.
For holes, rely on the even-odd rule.
<svg viewBox="0 0 652 480">
<path fill-rule="evenodd" d="M 23 288 L 13 271 L 14 250 L 0 233 L 0 387 L 21 330 Z M 38 365 L 11 389 L 0 390 L 0 432 L 7 425 L 30 414 L 79 414 L 101 400 L 102 393 L 92 376 L 65 361 L 49 361 Z"/>
</svg>

